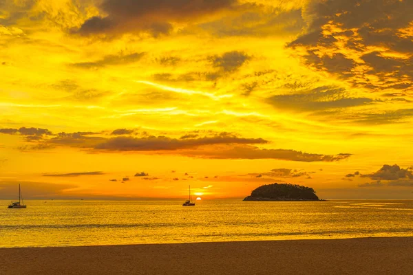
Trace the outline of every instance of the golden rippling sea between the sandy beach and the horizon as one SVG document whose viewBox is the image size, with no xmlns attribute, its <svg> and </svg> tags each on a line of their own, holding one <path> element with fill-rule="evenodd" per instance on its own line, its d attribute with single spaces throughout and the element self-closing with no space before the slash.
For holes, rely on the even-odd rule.
<svg viewBox="0 0 413 275">
<path fill-rule="evenodd" d="M 413 201 L 0 201 L 0 248 L 413 236 Z"/>
</svg>

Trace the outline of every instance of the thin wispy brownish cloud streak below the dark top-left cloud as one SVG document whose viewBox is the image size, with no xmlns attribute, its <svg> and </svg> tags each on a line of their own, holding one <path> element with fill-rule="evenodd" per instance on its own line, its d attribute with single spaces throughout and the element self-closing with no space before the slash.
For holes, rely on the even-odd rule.
<svg viewBox="0 0 413 275">
<path fill-rule="evenodd" d="M 107 65 L 126 65 L 139 61 L 140 58 L 142 58 L 144 55 L 144 52 L 135 52 L 134 54 L 109 55 L 105 56 L 104 58 L 98 61 L 73 63 L 72 65 L 84 69 L 94 69 L 98 67 L 104 67 Z"/>
</svg>

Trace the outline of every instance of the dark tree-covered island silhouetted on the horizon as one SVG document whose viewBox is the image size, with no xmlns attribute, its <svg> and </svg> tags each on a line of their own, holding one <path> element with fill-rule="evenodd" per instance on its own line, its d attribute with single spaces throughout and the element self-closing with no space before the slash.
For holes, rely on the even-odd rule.
<svg viewBox="0 0 413 275">
<path fill-rule="evenodd" d="M 321 201 L 315 190 L 297 184 L 266 184 L 251 192 L 244 201 Z"/>
</svg>

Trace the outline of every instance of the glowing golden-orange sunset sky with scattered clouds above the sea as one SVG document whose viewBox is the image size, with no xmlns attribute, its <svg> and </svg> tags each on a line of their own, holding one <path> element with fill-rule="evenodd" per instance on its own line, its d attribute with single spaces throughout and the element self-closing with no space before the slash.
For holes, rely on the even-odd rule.
<svg viewBox="0 0 413 275">
<path fill-rule="evenodd" d="M 413 199 L 411 10 L 0 0 L 0 198 Z"/>
</svg>

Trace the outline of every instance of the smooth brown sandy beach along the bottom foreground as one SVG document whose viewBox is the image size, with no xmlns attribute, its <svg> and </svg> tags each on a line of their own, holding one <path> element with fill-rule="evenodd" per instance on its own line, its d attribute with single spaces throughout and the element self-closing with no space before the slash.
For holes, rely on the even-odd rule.
<svg viewBox="0 0 413 275">
<path fill-rule="evenodd" d="M 1 248 L 0 274 L 413 274 L 413 237 Z"/>
</svg>

